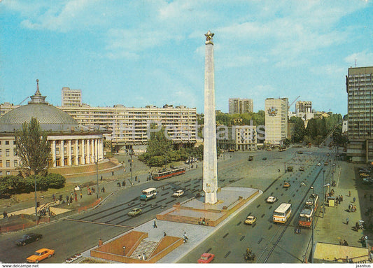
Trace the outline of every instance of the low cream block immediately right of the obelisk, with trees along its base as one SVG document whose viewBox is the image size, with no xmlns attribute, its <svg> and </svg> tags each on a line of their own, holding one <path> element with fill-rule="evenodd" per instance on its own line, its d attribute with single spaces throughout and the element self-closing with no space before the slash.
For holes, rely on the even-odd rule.
<svg viewBox="0 0 373 268">
<path fill-rule="evenodd" d="M 256 126 L 218 126 L 216 146 L 223 150 L 256 150 Z"/>
</svg>

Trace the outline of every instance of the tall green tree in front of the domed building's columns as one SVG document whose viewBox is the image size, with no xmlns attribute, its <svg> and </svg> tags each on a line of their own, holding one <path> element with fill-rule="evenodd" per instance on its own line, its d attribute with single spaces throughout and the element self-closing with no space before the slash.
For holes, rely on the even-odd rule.
<svg viewBox="0 0 373 268">
<path fill-rule="evenodd" d="M 50 143 L 47 132 L 41 131 L 36 118 L 24 122 L 22 129 L 15 132 L 15 148 L 20 157 L 20 167 L 27 176 L 46 174 L 50 157 Z"/>
</svg>

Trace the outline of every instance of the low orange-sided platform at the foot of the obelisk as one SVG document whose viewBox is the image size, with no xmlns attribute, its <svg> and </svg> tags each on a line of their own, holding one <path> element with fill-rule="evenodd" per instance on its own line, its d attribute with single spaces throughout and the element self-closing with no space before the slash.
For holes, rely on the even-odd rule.
<svg viewBox="0 0 373 268">
<path fill-rule="evenodd" d="M 215 204 L 205 204 L 203 196 L 193 197 L 185 202 L 176 203 L 171 209 L 157 214 L 157 219 L 216 226 L 261 193 L 262 191 L 253 188 L 221 188 L 217 192 L 218 202 Z"/>
</svg>

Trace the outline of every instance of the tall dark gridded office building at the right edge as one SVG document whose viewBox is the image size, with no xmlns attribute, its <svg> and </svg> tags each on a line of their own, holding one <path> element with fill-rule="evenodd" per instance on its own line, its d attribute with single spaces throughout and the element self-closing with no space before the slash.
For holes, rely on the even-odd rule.
<svg viewBox="0 0 373 268">
<path fill-rule="evenodd" d="M 347 160 L 373 161 L 373 66 L 349 68 Z"/>
</svg>

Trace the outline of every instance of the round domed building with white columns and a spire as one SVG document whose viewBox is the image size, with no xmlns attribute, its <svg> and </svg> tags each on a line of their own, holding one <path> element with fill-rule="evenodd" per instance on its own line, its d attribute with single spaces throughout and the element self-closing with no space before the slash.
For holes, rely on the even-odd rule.
<svg viewBox="0 0 373 268">
<path fill-rule="evenodd" d="M 15 131 L 36 118 L 51 141 L 49 167 L 92 164 L 104 158 L 103 129 L 78 125 L 75 119 L 45 101 L 38 89 L 27 105 L 15 108 L 0 118 L 0 176 L 17 174 L 19 158 L 15 150 Z"/>
</svg>

